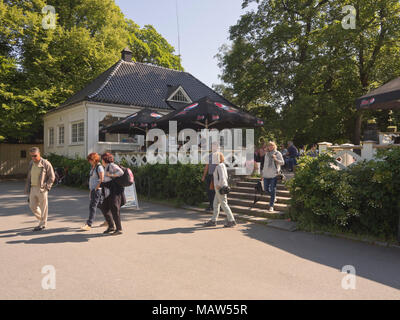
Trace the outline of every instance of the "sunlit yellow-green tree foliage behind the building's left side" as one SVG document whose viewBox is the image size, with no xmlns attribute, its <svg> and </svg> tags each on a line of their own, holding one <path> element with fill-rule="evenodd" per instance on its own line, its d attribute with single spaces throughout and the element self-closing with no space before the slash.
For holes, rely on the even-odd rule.
<svg viewBox="0 0 400 320">
<path fill-rule="evenodd" d="M 55 28 L 43 27 L 47 5 L 55 8 Z M 0 141 L 40 138 L 42 116 L 126 46 L 134 61 L 183 69 L 155 28 L 126 19 L 114 0 L 0 0 Z"/>
</svg>

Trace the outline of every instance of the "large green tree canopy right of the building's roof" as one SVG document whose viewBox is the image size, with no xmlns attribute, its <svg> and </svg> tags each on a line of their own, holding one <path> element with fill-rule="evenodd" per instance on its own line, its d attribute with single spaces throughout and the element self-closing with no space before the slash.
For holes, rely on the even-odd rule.
<svg viewBox="0 0 400 320">
<path fill-rule="evenodd" d="M 358 143 L 355 99 L 400 76 L 399 1 L 245 0 L 243 8 L 252 2 L 257 9 L 230 28 L 232 44 L 218 54 L 219 91 L 264 116 L 282 141 Z M 346 5 L 355 29 L 343 27 Z M 371 116 L 388 124 L 387 112 Z"/>
</svg>

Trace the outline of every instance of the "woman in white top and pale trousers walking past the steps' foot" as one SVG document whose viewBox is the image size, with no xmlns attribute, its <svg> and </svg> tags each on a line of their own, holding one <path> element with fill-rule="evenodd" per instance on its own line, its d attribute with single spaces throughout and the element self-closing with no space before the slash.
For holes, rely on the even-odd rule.
<svg viewBox="0 0 400 320">
<path fill-rule="evenodd" d="M 205 223 L 206 227 L 216 226 L 219 216 L 220 207 L 224 210 L 228 221 L 225 223 L 225 228 L 230 228 L 236 225 L 235 218 L 233 217 L 232 211 L 228 206 L 228 197 L 226 194 L 221 194 L 221 189 L 228 186 L 228 171 L 224 164 L 224 155 L 221 152 L 213 154 L 213 163 L 218 163 L 213 173 L 213 183 L 215 189 L 214 197 L 214 214 L 210 221 Z"/>
</svg>

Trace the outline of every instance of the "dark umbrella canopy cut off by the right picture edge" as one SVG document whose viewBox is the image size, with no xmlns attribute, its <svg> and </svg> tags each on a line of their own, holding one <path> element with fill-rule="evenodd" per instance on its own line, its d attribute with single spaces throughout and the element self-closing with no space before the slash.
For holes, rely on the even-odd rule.
<svg viewBox="0 0 400 320">
<path fill-rule="evenodd" d="M 357 109 L 400 109 L 400 77 L 356 100 Z"/>
</svg>

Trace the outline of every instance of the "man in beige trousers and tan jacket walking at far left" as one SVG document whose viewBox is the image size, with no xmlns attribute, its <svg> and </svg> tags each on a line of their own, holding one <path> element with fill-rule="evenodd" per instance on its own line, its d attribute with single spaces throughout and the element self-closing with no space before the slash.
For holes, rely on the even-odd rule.
<svg viewBox="0 0 400 320">
<path fill-rule="evenodd" d="M 29 207 L 39 225 L 33 231 L 41 231 L 47 226 L 48 192 L 53 185 L 55 175 L 53 166 L 40 156 L 39 148 L 31 148 L 28 176 L 25 184 L 25 193 L 29 195 Z"/>
</svg>

